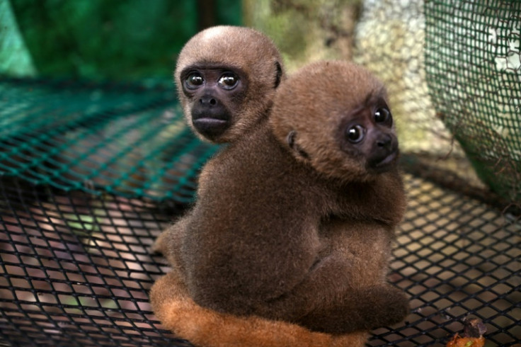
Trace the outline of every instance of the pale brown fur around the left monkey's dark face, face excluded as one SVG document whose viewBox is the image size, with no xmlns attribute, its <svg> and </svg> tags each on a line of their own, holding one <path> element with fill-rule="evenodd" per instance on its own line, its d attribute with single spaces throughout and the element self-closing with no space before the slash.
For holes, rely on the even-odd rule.
<svg viewBox="0 0 521 347">
<path fill-rule="evenodd" d="M 188 124 L 190 101 L 183 94 L 181 72 L 187 67 L 214 66 L 241 69 L 247 77 L 246 97 L 236 106 L 229 130 L 214 142 L 234 142 L 268 114 L 283 73 L 282 57 L 263 33 L 245 27 L 218 25 L 197 33 L 179 54 L 174 79 Z M 195 129 L 194 129 L 195 130 Z M 209 140 L 195 133 L 202 140 Z"/>
</svg>

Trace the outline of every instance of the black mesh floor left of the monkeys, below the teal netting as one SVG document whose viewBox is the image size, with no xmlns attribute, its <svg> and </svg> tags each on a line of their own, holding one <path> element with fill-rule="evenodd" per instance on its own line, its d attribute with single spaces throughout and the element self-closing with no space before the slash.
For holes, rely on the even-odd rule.
<svg viewBox="0 0 521 347">
<path fill-rule="evenodd" d="M 183 346 L 160 330 L 147 297 L 166 271 L 148 247 L 175 210 L 2 183 L 0 341 Z"/>
</svg>

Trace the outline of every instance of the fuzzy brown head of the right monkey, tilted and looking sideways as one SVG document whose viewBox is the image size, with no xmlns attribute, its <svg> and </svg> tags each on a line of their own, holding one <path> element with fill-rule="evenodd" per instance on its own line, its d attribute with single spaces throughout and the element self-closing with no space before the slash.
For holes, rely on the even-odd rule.
<svg viewBox="0 0 521 347">
<path fill-rule="evenodd" d="M 333 178 L 369 181 L 399 154 L 383 84 L 349 62 L 299 69 L 277 91 L 270 125 L 297 159 Z"/>
</svg>

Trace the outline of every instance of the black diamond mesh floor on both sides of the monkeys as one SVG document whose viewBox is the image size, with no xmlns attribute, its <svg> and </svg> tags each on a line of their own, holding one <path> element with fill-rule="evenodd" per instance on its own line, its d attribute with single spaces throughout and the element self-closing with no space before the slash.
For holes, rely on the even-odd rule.
<svg viewBox="0 0 521 347">
<path fill-rule="evenodd" d="M 487 346 L 521 336 L 521 223 L 405 176 L 409 208 L 390 280 L 412 312 L 371 346 L 441 346 L 468 315 Z M 175 205 L 0 183 L 0 341 L 12 346 L 189 346 L 161 329 L 147 292 L 168 271 L 149 246 Z"/>
</svg>

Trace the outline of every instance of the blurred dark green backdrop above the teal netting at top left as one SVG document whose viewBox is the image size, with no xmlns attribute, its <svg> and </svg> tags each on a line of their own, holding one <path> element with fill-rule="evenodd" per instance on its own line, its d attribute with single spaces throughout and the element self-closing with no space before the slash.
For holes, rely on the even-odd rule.
<svg viewBox="0 0 521 347">
<path fill-rule="evenodd" d="M 210 25 L 241 25 L 241 0 L 0 0 L 0 74 L 171 79 Z"/>
</svg>

